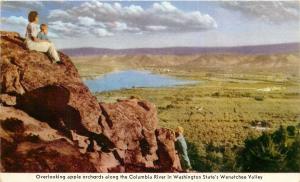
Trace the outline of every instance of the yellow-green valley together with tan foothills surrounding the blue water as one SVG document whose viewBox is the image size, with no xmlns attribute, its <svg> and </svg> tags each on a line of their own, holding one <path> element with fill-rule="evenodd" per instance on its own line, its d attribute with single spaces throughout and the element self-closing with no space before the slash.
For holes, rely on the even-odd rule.
<svg viewBox="0 0 300 182">
<path fill-rule="evenodd" d="M 73 58 L 83 77 L 122 69 L 147 69 L 177 77 L 204 80 L 175 88 L 136 88 L 97 93 L 99 101 L 140 97 L 156 104 L 159 125 L 182 125 L 196 145 L 241 145 L 251 124 L 271 129 L 300 122 L 298 54 L 273 56 L 101 56 Z M 264 92 L 258 89 L 272 88 Z"/>
</svg>

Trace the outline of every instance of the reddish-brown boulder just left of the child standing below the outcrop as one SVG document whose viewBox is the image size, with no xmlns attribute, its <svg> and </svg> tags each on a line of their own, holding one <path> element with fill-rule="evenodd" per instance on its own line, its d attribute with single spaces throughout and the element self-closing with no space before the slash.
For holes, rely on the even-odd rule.
<svg viewBox="0 0 300 182">
<path fill-rule="evenodd" d="M 103 134 L 115 144 L 115 155 L 124 166 L 135 164 L 154 168 L 158 160 L 155 129 L 155 106 L 137 99 L 114 104 L 100 103 L 103 117 L 99 120 Z"/>
</svg>

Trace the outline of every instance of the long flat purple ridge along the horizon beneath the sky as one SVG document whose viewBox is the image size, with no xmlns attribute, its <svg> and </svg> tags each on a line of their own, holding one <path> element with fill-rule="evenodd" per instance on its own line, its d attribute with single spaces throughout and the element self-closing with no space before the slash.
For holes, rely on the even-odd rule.
<svg viewBox="0 0 300 182">
<path fill-rule="evenodd" d="M 70 56 L 92 56 L 92 55 L 193 55 L 212 53 L 234 53 L 234 54 L 276 54 L 298 52 L 300 43 L 269 44 L 239 47 L 166 47 L 166 48 L 133 48 L 133 49 L 106 49 L 106 48 L 70 48 L 61 49 Z"/>
</svg>

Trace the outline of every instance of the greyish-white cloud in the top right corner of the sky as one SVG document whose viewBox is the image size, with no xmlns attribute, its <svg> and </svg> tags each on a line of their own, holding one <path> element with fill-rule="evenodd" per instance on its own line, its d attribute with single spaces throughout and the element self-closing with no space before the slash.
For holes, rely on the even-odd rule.
<svg viewBox="0 0 300 182">
<path fill-rule="evenodd" d="M 299 1 L 227 1 L 222 7 L 268 23 L 300 21 Z"/>
</svg>

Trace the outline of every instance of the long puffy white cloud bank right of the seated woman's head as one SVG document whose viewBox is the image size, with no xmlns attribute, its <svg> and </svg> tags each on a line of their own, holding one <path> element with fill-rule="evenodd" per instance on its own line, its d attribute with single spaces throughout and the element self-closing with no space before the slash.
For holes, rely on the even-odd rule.
<svg viewBox="0 0 300 182">
<path fill-rule="evenodd" d="M 101 37 L 121 32 L 198 32 L 217 27 L 210 15 L 184 12 L 170 2 L 155 2 L 144 9 L 137 5 L 87 1 L 68 10 L 52 10 L 48 18 L 53 25 L 72 23 Z M 58 28 L 62 29 L 60 25 Z"/>
</svg>

